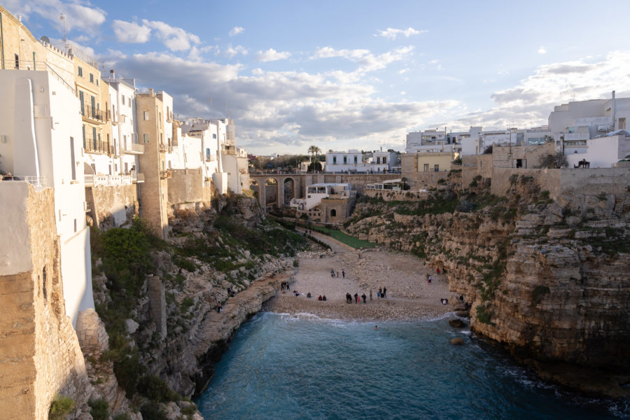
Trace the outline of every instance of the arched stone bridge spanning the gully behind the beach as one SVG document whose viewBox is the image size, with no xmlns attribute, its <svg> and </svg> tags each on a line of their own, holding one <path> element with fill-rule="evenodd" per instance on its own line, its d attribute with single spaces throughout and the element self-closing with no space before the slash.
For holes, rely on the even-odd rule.
<svg viewBox="0 0 630 420">
<path fill-rule="evenodd" d="M 263 209 L 267 206 L 288 206 L 292 198 L 306 197 L 307 186 L 315 183 L 350 183 L 357 193 L 363 193 L 366 183 L 399 179 L 401 174 L 249 174 L 251 190 L 258 191 L 258 202 Z M 270 185 L 267 181 L 273 180 Z M 286 185 L 285 185 L 286 184 Z M 260 188 L 260 187 L 263 188 Z M 286 188 L 285 188 L 286 187 Z M 286 190 L 286 193 L 285 193 Z"/>
</svg>

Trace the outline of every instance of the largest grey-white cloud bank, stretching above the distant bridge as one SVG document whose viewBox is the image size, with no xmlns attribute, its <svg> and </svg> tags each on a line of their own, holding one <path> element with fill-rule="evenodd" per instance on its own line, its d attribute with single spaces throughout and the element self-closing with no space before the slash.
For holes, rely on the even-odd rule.
<svg viewBox="0 0 630 420">
<path fill-rule="evenodd" d="M 239 64 L 196 62 L 166 53 L 110 57 L 107 68 L 134 75 L 137 85 L 172 94 L 181 116 L 207 116 L 208 97 L 229 103 L 239 125 L 239 144 L 250 151 L 356 139 L 375 147 L 378 141 L 404 139 L 405 127 L 435 118 L 455 101 L 388 102 L 355 72 L 262 71 L 241 73 Z M 407 96 L 409 96 L 407 94 Z M 222 107 L 214 116 L 223 117 Z M 383 118 L 383 116 L 388 116 Z"/>
</svg>

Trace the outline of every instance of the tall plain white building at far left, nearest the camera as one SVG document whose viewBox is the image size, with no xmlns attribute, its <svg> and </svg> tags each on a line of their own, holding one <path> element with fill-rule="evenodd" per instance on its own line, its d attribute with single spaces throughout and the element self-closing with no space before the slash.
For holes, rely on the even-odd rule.
<svg viewBox="0 0 630 420">
<path fill-rule="evenodd" d="M 54 189 L 66 315 L 75 323 L 78 311 L 94 307 L 80 104 L 71 87 L 46 71 L 0 71 L 0 97 L 0 169 L 37 188 Z M 10 201 L 20 198 L 2 197 L 3 205 L 17 210 L 18 202 Z M 0 274 L 13 274 L 27 257 L 20 253 L 29 238 L 8 226 L 1 231 L 6 246 L 0 260 L 6 263 Z"/>
</svg>

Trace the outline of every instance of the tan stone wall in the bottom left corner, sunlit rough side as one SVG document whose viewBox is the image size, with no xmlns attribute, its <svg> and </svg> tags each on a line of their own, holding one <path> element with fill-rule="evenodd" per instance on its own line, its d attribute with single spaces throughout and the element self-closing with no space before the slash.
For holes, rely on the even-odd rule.
<svg viewBox="0 0 630 420">
<path fill-rule="evenodd" d="M 0 274 L 0 412 L 7 420 L 46 419 L 57 393 L 80 405 L 91 388 L 64 307 L 53 192 L 36 192 L 25 182 L 0 182 L 0 195 L 12 197 L 0 199 L 0 205 L 10 203 L 13 216 L 28 227 L 25 235 L 6 225 L 15 220 L 0 219 L 3 241 L 27 246 L 22 258 L 29 260 L 27 271 L 14 265 L 12 274 L 7 267 Z"/>
</svg>

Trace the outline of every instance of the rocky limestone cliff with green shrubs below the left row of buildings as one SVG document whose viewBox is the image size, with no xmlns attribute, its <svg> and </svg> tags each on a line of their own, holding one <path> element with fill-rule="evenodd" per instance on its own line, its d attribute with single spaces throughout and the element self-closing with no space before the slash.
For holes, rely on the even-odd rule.
<svg viewBox="0 0 630 420">
<path fill-rule="evenodd" d="M 141 221 L 94 232 L 94 300 L 109 346 L 89 352 L 88 369 L 109 386 L 110 406 L 125 406 L 106 382 L 113 372 L 143 416 L 192 419 L 186 398 L 204 390 L 235 330 L 293 273 L 304 239 L 244 196 L 179 209 L 169 225 L 169 241 Z"/>
</svg>

